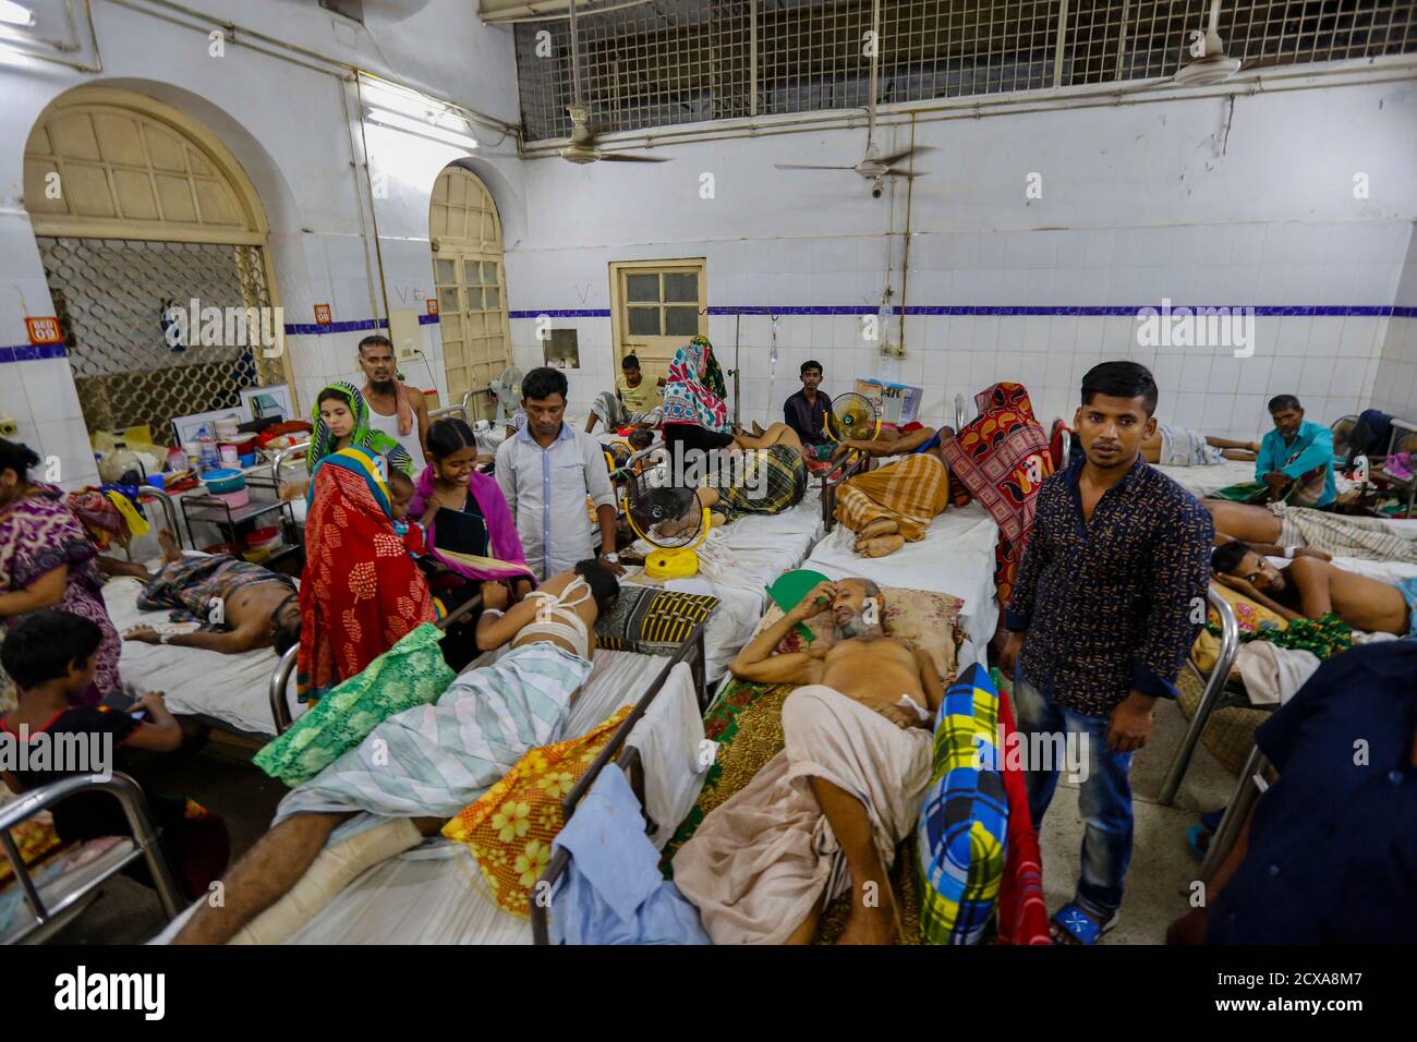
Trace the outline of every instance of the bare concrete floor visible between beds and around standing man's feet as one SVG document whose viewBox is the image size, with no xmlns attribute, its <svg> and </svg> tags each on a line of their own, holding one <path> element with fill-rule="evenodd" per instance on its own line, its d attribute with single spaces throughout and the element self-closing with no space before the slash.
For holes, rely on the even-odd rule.
<svg viewBox="0 0 1417 1042">
<path fill-rule="evenodd" d="M 1172 705 L 1156 709 L 1152 740 L 1132 761 L 1132 807 L 1136 815 L 1132 866 L 1117 929 L 1102 944 L 1161 944 L 1166 926 L 1183 914 L 1186 890 L 1199 862 L 1186 846 L 1186 829 L 1200 811 L 1223 807 L 1234 788 L 1230 775 L 1202 744 L 1173 807 L 1156 802 L 1162 777 L 1186 730 Z M 145 767 L 154 790 L 186 794 L 217 811 L 231 832 L 232 861 L 265 832 L 285 785 L 245 761 L 248 751 L 213 741 L 200 753 L 154 757 Z M 1083 842 L 1077 785 L 1064 775 L 1040 829 L 1043 886 L 1049 912 L 1073 897 Z M 118 878 L 55 943 L 137 944 L 156 934 L 164 920 L 152 890 Z"/>
</svg>

